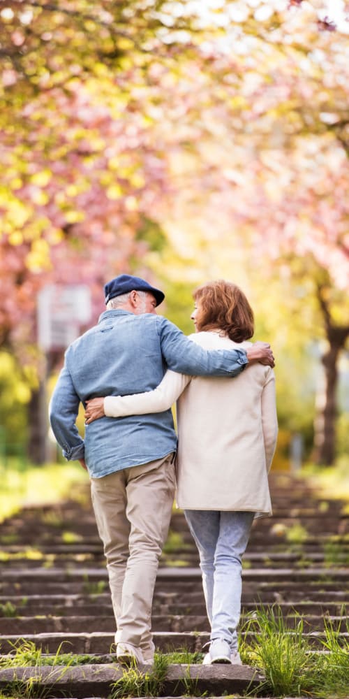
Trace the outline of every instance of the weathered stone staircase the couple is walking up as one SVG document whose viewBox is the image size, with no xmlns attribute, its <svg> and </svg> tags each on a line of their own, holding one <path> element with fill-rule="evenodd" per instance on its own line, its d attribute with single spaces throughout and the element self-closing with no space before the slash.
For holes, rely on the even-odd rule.
<svg viewBox="0 0 349 699">
<path fill-rule="evenodd" d="M 314 496 L 304 480 L 281 473 L 271 477 L 274 515 L 253 525 L 244 559 L 242 629 L 258 605 L 277 605 L 285 623 L 302 615 L 304 635 L 321 649 L 324 624 L 343 637 L 349 603 L 349 530 L 343 503 Z M 110 696 L 123 670 L 114 655 L 114 617 L 107 573 L 89 498 L 27 508 L 0 527 L 0 654 L 15 654 L 24 641 L 46 654 L 89 656 L 87 664 L 64 671 L 16 668 L 17 679 L 33 678 L 52 687 L 52 698 Z M 152 616 L 154 642 L 165 654 L 201 653 L 209 639 L 198 554 L 180 511 L 156 580 Z M 247 642 L 251 628 L 242 630 Z M 0 693 L 14 670 L 0 670 Z M 244 693 L 262 675 L 248 666 L 170 665 L 161 696 L 221 696 Z M 159 695 L 160 696 L 160 695 Z"/>
</svg>

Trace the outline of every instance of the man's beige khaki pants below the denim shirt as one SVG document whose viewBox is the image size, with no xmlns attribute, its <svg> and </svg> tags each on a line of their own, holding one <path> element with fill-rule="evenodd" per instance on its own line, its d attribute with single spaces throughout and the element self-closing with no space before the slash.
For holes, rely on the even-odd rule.
<svg viewBox="0 0 349 699">
<path fill-rule="evenodd" d="M 112 606 L 117 621 L 115 642 L 154 655 L 151 638 L 158 559 L 168 535 L 174 499 L 173 454 L 142 466 L 91 478 L 98 533 L 107 559 Z"/>
</svg>

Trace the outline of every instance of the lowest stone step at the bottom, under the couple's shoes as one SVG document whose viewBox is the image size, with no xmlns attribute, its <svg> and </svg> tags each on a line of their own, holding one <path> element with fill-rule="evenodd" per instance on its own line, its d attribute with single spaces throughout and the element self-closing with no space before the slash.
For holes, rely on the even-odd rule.
<svg viewBox="0 0 349 699">
<path fill-rule="evenodd" d="M 149 672 L 146 665 L 140 672 Z M 13 668 L 0 670 L 0 691 L 10 688 L 10 683 L 30 680 L 31 696 L 41 696 L 49 689 L 54 698 L 75 696 L 79 699 L 91 696 L 110 696 L 112 687 L 124 676 L 120 665 L 82 665 L 75 667 Z M 169 665 L 157 696 L 190 696 L 241 693 L 260 684 L 263 676 L 247 665 Z M 136 689 L 136 688 L 135 688 Z"/>
</svg>

